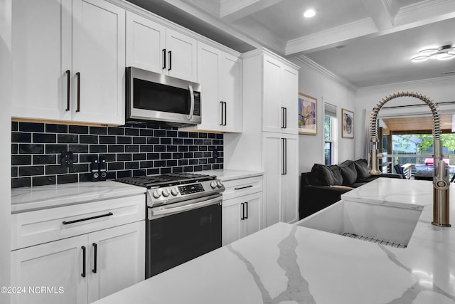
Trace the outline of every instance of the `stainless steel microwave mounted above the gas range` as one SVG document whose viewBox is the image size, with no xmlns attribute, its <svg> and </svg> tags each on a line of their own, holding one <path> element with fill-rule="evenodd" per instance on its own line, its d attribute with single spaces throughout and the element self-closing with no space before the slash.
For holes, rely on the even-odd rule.
<svg viewBox="0 0 455 304">
<path fill-rule="evenodd" d="M 200 114 L 200 84 L 127 68 L 127 122 L 183 127 L 200 124 Z"/>
</svg>

